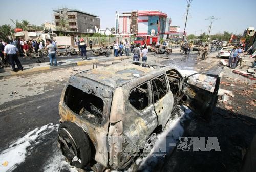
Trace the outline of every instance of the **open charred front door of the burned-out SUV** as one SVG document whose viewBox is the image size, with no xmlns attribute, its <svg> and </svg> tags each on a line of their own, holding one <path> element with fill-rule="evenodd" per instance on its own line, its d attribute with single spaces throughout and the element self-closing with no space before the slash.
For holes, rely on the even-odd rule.
<svg viewBox="0 0 256 172">
<path fill-rule="evenodd" d="M 182 101 L 191 110 L 205 119 L 210 119 L 218 100 L 220 77 L 218 75 L 194 73 L 184 79 Z"/>
</svg>

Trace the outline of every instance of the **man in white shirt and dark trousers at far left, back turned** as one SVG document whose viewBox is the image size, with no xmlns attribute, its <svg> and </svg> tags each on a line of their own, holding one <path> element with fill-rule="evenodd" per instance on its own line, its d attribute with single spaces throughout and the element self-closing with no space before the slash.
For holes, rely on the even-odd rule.
<svg viewBox="0 0 256 172">
<path fill-rule="evenodd" d="M 12 66 L 12 70 L 14 72 L 17 72 L 18 70 L 16 69 L 15 67 L 15 63 L 16 65 L 18 66 L 18 69 L 19 70 L 22 70 L 23 71 L 23 67 L 22 67 L 22 64 L 20 63 L 19 59 L 18 59 L 18 49 L 17 47 L 15 47 L 14 45 L 12 45 L 11 41 L 6 41 L 5 43 L 7 43 L 7 45 L 5 46 L 5 50 L 4 50 L 4 58 L 6 59 L 7 56 L 9 58 L 9 61 L 11 63 L 11 66 Z M 19 55 L 19 54 L 18 54 Z"/>
</svg>

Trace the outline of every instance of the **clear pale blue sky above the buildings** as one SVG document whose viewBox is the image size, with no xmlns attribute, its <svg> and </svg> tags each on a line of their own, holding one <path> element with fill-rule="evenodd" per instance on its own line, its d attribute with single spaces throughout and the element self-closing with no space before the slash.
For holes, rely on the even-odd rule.
<svg viewBox="0 0 256 172">
<path fill-rule="evenodd" d="M 184 30 L 186 0 L 12 0 L 1 1 L 0 25 L 11 24 L 13 20 L 26 19 L 30 24 L 41 25 L 53 21 L 53 9 L 67 7 L 89 12 L 100 17 L 101 28 L 115 26 L 115 12 L 132 10 L 160 10 L 172 18 L 172 25 L 181 26 Z M 242 33 L 247 27 L 256 28 L 256 0 L 193 0 L 190 6 L 187 28 L 188 34 L 199 35 L 207 32 L 211 16 L 220 18 L 213 23 L 211 34 L 229 31 Z"/>
</svg>

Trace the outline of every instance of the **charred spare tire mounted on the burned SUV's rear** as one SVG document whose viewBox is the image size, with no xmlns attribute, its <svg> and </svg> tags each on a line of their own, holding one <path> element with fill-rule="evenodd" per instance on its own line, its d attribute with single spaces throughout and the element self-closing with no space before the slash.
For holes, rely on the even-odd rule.
<svg viewBox="0 0 256 172">
<path fill-rule="evenodd" d="M 91 160 L 89 137 L 73 122 L 65 121 L 58 128 L 58 142 L 70 165 L 84 168 Z M 74 157 L 77 159 L 74 159 Z M 80 161 L 79 161 L 80 160 Z"/>
</svg>

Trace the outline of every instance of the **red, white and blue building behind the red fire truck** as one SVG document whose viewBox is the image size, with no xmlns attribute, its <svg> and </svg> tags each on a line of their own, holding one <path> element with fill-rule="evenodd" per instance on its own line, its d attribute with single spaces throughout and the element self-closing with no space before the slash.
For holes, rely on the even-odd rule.
<svg viewBox="0 0 256 172">
<path fill-rule="evenodd" d="M 156 10 L 116 13 L 116 33 L 152 35 L 166 39 L 169 21 L 167 14 Z"/>
</svg>

